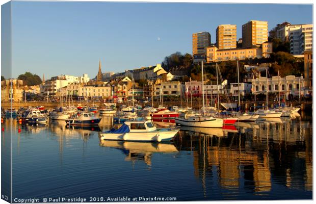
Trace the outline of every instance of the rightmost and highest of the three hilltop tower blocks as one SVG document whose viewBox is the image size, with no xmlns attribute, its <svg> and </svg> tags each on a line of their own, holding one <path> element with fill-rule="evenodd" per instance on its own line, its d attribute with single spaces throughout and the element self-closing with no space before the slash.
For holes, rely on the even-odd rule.
<svg viewBox="0 0 316 204">
<path fill-rule="evenodd" d="M 250 20 L 243 24 L 243 47 L 260 46 L 268 41 L 268 21 Z"/>
</svg>

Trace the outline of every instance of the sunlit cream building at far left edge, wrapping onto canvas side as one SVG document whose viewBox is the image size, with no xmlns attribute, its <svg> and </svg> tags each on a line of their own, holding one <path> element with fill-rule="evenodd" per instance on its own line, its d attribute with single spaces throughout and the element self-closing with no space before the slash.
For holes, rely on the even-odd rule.
<svg viewBox="0 0 316 204">
<path fill-rule="evenodd" d="M 1 101 L 22 101 L 24 99 L 23 81 L 8 79 L 1 81 Z"/>
</svg>

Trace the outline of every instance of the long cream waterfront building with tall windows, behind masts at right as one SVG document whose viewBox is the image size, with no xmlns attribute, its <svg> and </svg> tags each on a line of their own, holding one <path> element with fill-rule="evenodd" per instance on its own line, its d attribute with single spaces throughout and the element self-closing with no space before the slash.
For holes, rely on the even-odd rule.
<svg viewBox="0 0 316 204">
<path fill-rule="evenodd" d="M 257 79 L 252 79 L 251 84 L 251 92 L 253 94 L 266 94 L 268 89 L 268 93 L 276 93 L 276 96 L 280 91 L 280 94 L 282 96 L 285 95 L 286 99 L 289 98 L 289 94 L 292 94 L 293 96 L 304 95 L 303 76 L 295 77 L 294 75 L 287 75 L 284 78 L 273 76 L 272 78 L 268 78 L 268 87 L 266 87 L 266 77 L 259 77 Z"/>
</svg>

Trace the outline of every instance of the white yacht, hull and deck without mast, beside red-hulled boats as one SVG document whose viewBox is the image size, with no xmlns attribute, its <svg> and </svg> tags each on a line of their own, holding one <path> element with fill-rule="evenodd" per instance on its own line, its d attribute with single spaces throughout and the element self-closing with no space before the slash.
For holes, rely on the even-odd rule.
<svg viewBox="0 0 316 204">
<path fill-rule="evenodd" d="M 206 116 L 190 116 L 188 118 L 174 118 L 176 124 L 192 127 L 223 127 L 224 120 Z"/>
</svg>

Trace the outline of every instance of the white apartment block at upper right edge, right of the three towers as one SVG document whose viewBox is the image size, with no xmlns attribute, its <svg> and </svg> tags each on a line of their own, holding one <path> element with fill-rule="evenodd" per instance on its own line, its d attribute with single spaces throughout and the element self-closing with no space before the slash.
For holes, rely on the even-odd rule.
<svg viewBox="0 0 316 204">
<path fill-rule="evenodd" d="M 292 55 L 303 55 L 305 51 L 312 50 L 313 25 L 295 25 L 288 29 L 288 41 Z"/>
</svg>

